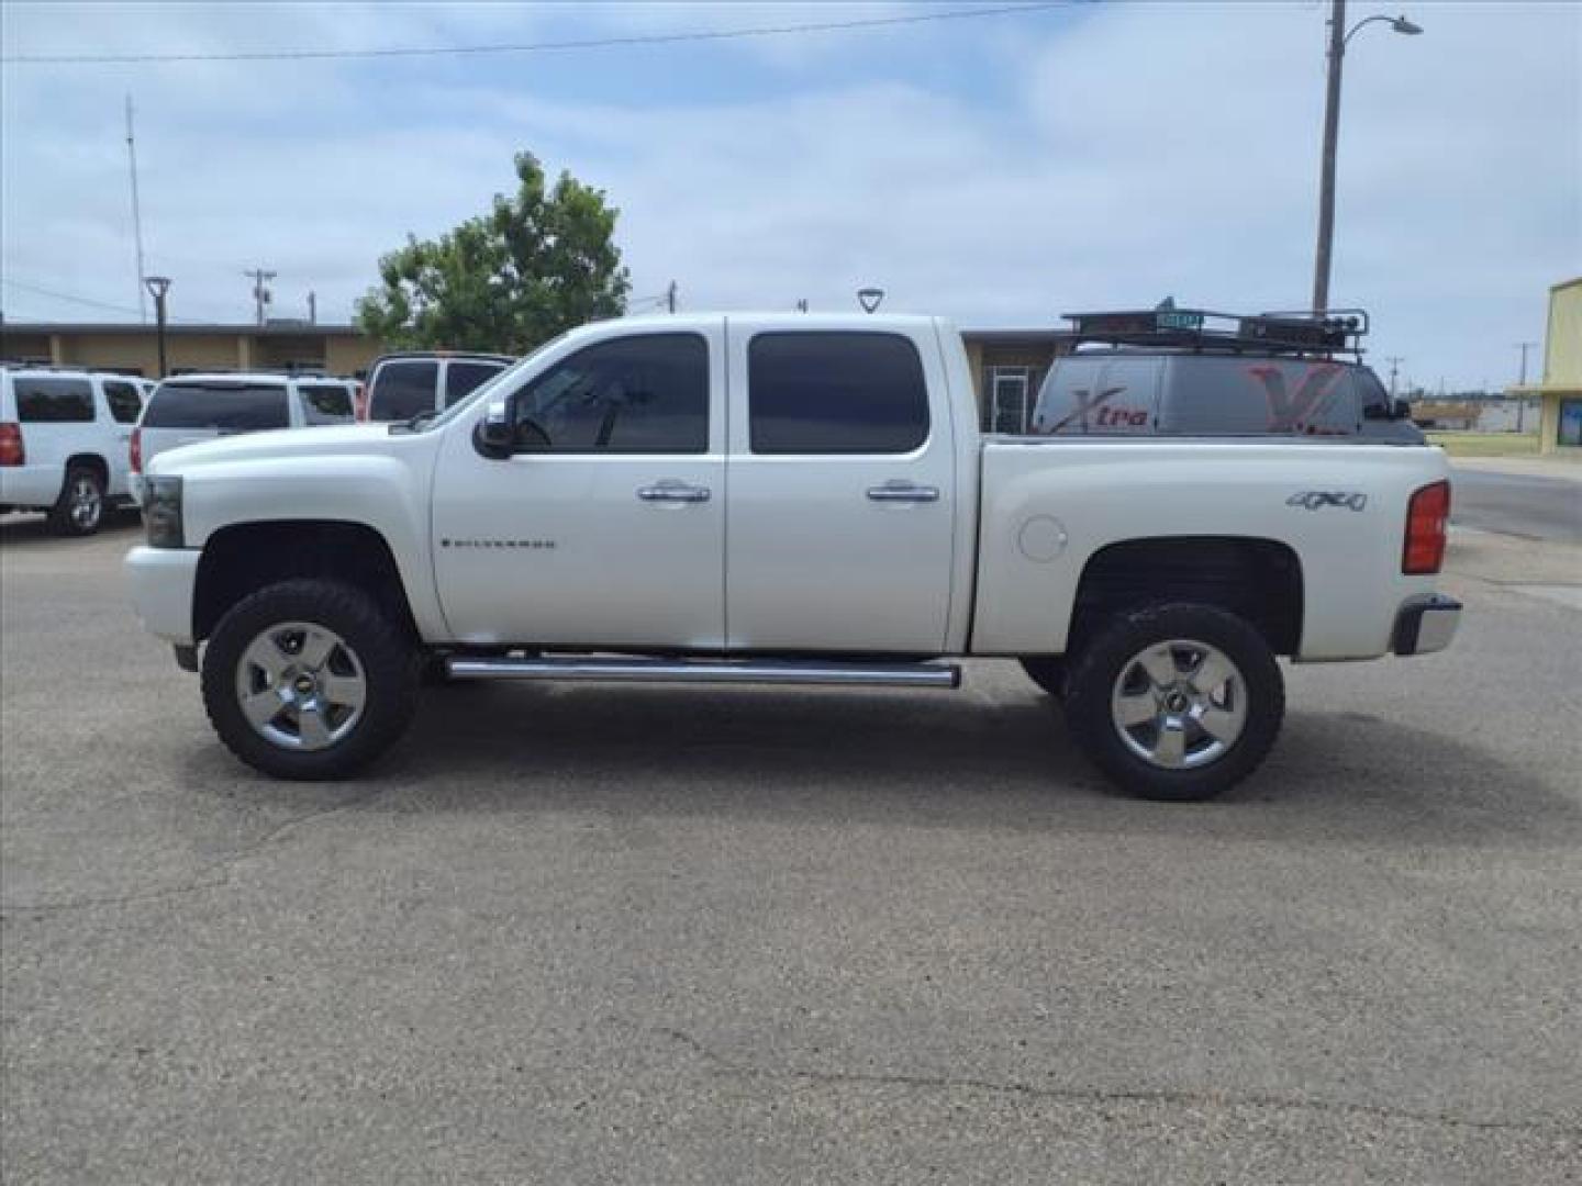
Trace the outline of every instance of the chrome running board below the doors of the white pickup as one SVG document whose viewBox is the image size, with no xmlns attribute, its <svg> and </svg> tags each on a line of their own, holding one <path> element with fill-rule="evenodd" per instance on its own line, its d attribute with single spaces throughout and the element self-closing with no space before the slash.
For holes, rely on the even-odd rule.
<svg viewBox="0 0 1582 1186">
<path fill-rule="evenodd" d="M 568 680 L 577 683 L 819 683 L 861 688 L 959 688 L 962 669 L 932 663 L 821 663 L 816 659 L 592 659 L 452 655 L 452 680 Z"/>
</svg>

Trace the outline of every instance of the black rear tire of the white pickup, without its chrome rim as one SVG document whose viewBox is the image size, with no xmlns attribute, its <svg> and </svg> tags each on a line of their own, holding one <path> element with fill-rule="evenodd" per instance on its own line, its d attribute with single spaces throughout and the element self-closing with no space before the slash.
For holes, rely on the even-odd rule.
<svg viewBox="0 0 1582 1186">
<path fill-rule="evenodd" d="M 1175 639 L 1217 647 L 1245 685 L 1240 735 L 1221 756 L 1191 769 L 1161 769 L 1133 753 L 1111 707 L 1133 656 Z M 1269 642 L 1243 618 L 1213 606 L 1163 604 L 1111 618 L 1081 645 L 1066 677 L 1065 708 L 1077 745 L 1120 789 L 1142 799 L 1198 802 L 1231 789 L 1269 754 L 1285 720 L 1285 680 Z"/>
</svg>

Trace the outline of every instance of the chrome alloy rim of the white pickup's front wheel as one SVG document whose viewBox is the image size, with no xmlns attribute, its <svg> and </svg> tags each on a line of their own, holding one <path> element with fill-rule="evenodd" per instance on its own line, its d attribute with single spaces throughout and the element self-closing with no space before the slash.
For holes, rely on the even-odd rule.
<svg viewBox="0 0 1582 1186">
<path fill-rule="evenodd" d="M 247 644 L 236 697 L 248 724 L 282 750 L 326 750 L 356 727 L 369 682 L 335 631 L 283 621 Z"/>
</svg>

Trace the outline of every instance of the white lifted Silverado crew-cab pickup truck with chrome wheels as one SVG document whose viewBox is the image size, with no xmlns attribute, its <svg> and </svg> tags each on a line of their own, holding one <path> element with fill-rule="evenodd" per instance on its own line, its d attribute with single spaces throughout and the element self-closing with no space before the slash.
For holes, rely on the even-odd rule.
<svg viewBox="0 0 1582 1186">
<path fill-rule="evenodd" d="M 286 778 L 365 765 L 426 675 L 954 688 L 986 656 L 1120 786 L 1202 799 L 1269 751 L 1277 656 L 1455 633 L 1438 449 L 978 422 L 943 319 L 604 321 L 438 416 L 161 454 L 127 572 Z"/>
</svg>

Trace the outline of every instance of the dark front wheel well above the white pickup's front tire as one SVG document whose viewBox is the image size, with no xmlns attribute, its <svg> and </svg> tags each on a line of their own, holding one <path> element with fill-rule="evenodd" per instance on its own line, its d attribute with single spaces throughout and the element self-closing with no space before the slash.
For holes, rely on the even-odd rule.
<svg viewBox="0 0 1582 1186">
<path fill-rule="evenodd" d="M 294 519 L 239 523 L 209 536 L 193 591 L 193 637 L 209 637 L 242 598 L 293 577 L 329 577 L 354 585 L 396 621 L 418 633 L 384 536 L 362 523 Z"/>
</svg>

